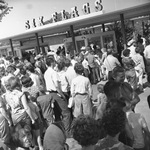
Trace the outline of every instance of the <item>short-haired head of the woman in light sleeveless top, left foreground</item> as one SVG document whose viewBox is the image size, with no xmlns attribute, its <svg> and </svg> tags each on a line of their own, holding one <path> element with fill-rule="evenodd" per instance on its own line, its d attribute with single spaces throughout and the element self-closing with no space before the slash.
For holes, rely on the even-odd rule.
<svg viewBox="0 0 150 150">
<path fill-rule="evenodd" d="M 10 77 L 8 79 L 7 84 L 8 84 L 8 87 L 10 88 L 9 89 L 10 91 L 13 91 L 14 89 L 21 90 L 21 83 L 20 83 L 19 78 L 17 78 L 17 77 Z"/>
</svg>

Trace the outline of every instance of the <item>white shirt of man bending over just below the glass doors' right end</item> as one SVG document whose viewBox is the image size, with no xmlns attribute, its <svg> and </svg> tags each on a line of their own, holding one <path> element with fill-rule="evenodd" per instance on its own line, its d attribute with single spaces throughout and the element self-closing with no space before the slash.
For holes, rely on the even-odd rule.
<svg viewBox="0 0 150 150">
<path fill-rule="evenodd" d="M 113 55 L 108 55 L 104 60 L 104 66 L 107 71 L 112 71 L 117 65 L 120 65 L 120 62 Z"/>
</svg>

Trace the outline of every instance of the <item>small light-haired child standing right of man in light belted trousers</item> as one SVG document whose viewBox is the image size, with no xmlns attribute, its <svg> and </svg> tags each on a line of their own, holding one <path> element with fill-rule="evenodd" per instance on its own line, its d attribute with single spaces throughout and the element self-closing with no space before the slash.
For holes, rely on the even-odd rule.
<svg viewBox="0 0 150 150">
<path fill-rule="evenodd" d="M 103 112 L 106 109 L 107 97 L 104 93 L 104 84 L 101 82 L 97 85 L 97 90 L 99 94 L 97 95 L 97 101 L 93 101 L 94 106 L 96 107 L 96 119 L 100 119 L 103 116 Z"/>
</svg>

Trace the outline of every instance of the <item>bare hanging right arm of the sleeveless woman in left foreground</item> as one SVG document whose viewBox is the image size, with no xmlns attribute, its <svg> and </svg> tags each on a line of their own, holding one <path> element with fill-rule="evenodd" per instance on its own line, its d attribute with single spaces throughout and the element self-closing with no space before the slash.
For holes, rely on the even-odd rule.
<svg viewBox="0 0 150 150">
<path fill-rule="evenodd" d="M 29 117 L 31 118 L 32 124 L 34 124 L 35 118 L 34 118 L 34 116 L 33 116 L 33 114 L 32 114 L 32 111 L 31 111 L 29 105 L 28 105 L 28 102 L 27 102 L 27 99 L 26 99 L 25 94 L 22 95 L 22 97 L 21 97 L 21 102 L 22 102 L 22 105 L 23 105 L 25 111 L 27 112 L 27 114 L 28 114 Z"/>
</svg>

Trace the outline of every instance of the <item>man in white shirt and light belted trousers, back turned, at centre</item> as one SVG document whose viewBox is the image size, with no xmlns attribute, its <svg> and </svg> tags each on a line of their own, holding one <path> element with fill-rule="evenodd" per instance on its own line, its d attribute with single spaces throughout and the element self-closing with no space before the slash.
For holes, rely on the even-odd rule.
<svg viewBox="0 0 150 150">
<path fill-rule="evenodd" d="M 74 101 L 73 115 L 76 118 L 82 113 L 84 115 L 91 115 L 92 87 L 90 80 L 82 75 L 84 72 L 83 65 L 81 63 L 76 63 L 74 69 L 77 73 L 77 77 L 72 80 L 71 95 Z"/>
</svg>

